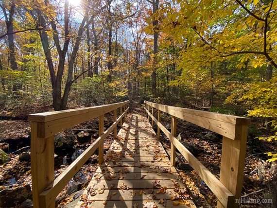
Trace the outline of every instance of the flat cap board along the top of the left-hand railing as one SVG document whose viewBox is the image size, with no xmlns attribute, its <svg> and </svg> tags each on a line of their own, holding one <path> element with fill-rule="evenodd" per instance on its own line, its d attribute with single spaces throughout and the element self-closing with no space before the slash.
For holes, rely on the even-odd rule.
<svg viewBox="0 0 277 208">
<path fill-rule="evenodd" d="M 114 110 L 115 108 L 119 108 L 120 106 L 123 106 L 128 103 L 129 101 L 124 101 L 116 104 L 107 104 L 107 105 L 100 105 L 100 106 L 93 106 L 93 107 L 86 107 L 86 108 L 77 108 L 77 109 L 30 114 L 28 116 L 28 121 L 35 121 L 35 122 L 54 121 L 54 120 L 59 120 L 59 119 L 81 115 L 81 114 L 95 113 L 97 111 L 101 111 L 101 114 L 105 114 L 105 113 L 108 113 L 109 111 Z"/>
</svg>

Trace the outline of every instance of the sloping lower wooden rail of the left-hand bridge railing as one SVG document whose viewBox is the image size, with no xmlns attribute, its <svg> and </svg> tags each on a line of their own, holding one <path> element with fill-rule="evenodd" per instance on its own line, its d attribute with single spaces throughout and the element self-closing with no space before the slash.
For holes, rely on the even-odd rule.
<svg viewBox="0 0 277 208">
<path fill-rule="evenodd" d="M 50 205 L 52 205 L 52 203 L 54 205 L 55 197 L 63 190 L 63 188 L 68 184 L 71 178 L 76 173 L 78 173 L 80 168 L 87 162 L 89 157 L 95 152 L 95 150 L 100 146 L 100 144 L 104 142 L 104 139 L 113 131 L 114 127 L 121 121 L 122 117 L 127 113 L 127 110 L 106 131 L 104 131 L 104 133 L 98 139 L 96 139 L 80 156 L 78 156 L 77 159 L 74 160 L 63 173 L 61 173 L 55 180 L 53 180 L 53 182 L 49 186 L 43 189 L 44 191 L 42 191 L 41 194 L 39 194 L 39 199 L 42 202 L 41 207 L 44 206 L 45 208 L 48 208 Z"/>
</svg>

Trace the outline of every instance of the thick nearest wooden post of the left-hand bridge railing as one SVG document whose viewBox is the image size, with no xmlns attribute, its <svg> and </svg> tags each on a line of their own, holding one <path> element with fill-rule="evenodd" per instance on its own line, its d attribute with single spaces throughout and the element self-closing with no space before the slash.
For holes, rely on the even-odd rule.
<svg viewBox="0 0 277 208">
<path fill-rule="evenodd" d="M 34 208 L 45 207 L 39 194 L 54 181 L 54 135 L 38 138 L 39 125 L 31 122 L 31 168 Z M 55 202 L 48 208 L 54 208 Z"/>
</svg>

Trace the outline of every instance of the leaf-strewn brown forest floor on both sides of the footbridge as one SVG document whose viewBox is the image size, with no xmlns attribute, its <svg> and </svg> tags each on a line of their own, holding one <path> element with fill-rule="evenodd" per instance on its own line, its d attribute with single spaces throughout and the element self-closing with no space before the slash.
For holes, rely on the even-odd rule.
<svg viewBox="0 0 277 208">
<path fill-rule="evenodd" d="M 140 104 L 132 102 L 131 106 L 132 113 L 146 115 Z M 7 142 L 10 144 L 10 150 L 8 151 L 10 161 L 0 165 L 0 197 L 1 191 L 4 189 L 16 190 L 17 188 L 23 187 L 25 191 L 27 190 L 30 192 L 24 196 L 24 199 L 32 199 L 31 161 L 29 158 L 19 160 L 23 152 L 30 154 L 31 151 L 30 123 L 22 118 L 20 120 L 12 120 L 7 117 L 3 118 L 6 120 L 0 120 L 0 143 Z M 108 127 L 110 121 L 112 121 L 113 115 L 106 114 L 105 118 L 107 118 L 105 119 L 105 126 Z M 75 126 L 73 129 L 84 129 L 95 122 L 97 122 L 97 120 L 87 121 Z M 161 122 L 166 128 L 171 128 L 171 117 L 169 115 L 162 114 Z M 156 125 L 154 129 L 156 131 Z M 201 127 L 178 120 L 178 139 L 180 139 L 182 143 L 184 142 L 192 154 L 205 164 L 211 173 L 219 178 L 222 139 L 216 134 L 211 134 L 211 137 L 207 137 L 208 133 L 207 130 Z M 210 136 L 210 134 L 208 135 Z M 91 142 L 82 144 L 79 144 L 78 141 L 75 140 L 74 149 L 71 151 L 66 153 L 55 153 L 55 177 L 76 159 L 76 157 L 96 138 L 97 134 L 91 135 Z M 105 151 L 109 149 L 113 139 L 111 134 L 104 140 Z M 167 139 L 163 133 L 161 133 L 161 142 L 165 150 L 170 153 L 170 140 Z M 267 157 L 263 153 L 268 151 L 274 151 L 272 145 L 269 145 L 265 141 L 254 139 L 254 136 L 249 135 L 242 187 L 242 196 L 248 201 L 247 203 L 242 203 L 241 207 L 276 207 L 276 204 L 274 204 L 274 202 L 276 203 L 274 200 L 276 200 L 277 191 L 276 165 L 274 163 L 265 162 Z M 70 180 L 69 184 L 56 198 L 58 207 L 70 207 L 70 202 L 78 199 L 93 173 L 95 173 L 98 168 L 97 159 L 97 154 L 91 156 L 82 169 Z M 184 184 L 187 185 L 188 194 L 196 206 L 204 208 L 216 207 L 216 197 L 178 152 L 176 164 L 176 168 L 182 176 Z M 273 203 L 264 203 L 262 199 L 273 199 Z M 252 203 L 249 203 L 249 200 L 252 200 Z M 22 202 L 22 199 L 20 202 Z M 19 204 L 14 204 L 13 200 L 11 200 L 10 203 L 10 207 L 20 207 Z M 24 203 L 24 205 L 30 205 L 31 201 L 26 200 Z"/>
</svg>

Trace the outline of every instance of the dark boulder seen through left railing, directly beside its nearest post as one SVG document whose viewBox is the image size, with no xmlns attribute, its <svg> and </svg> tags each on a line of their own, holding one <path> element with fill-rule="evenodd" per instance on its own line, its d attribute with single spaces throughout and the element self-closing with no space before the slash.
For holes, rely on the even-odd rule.
<svg viewBox="0 0 277 208">
<path fill-rule="evenodd" d="M 63 131 L 55 135 L 55 149 L 69 149 L 74 145 L 76 136 L 72 130 Z"/>
</svg>

